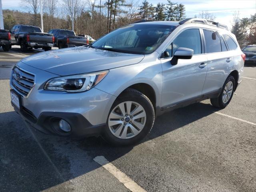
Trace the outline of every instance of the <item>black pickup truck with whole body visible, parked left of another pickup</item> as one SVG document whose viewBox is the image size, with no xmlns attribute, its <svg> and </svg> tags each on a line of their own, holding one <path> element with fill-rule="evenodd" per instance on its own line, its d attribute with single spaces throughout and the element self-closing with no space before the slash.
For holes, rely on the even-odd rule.
<svg viewBox="0 0 256 192">
<path fill-rule="evenodd" d="M 22 51 L 32 47 L 48 51 L 52 49 L 53 42 L 52 34 L 42 33 L 42 30 L 36 26 L 15 25 L 11 30 L 12 45 L 20 45 Z"/>
</svg>

